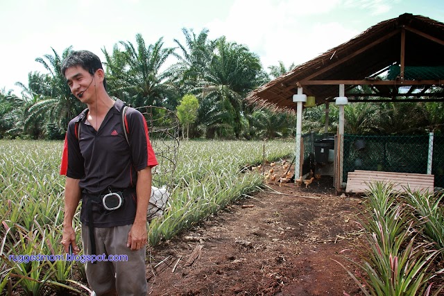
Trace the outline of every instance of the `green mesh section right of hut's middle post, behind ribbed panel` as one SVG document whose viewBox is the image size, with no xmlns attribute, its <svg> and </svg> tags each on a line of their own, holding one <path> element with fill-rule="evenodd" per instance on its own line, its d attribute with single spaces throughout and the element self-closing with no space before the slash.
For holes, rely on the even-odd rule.
<svg viewBox="0 0 444 296">
<path fill-rule="evenodd" d="M 427 173 L 429 154 L 435 186 L 444 187 L 444 137 L 434 136 L 429 150 L 429 134 L 421 136 L 344 135 L 343 180 L 355 170 L 397 173 Z"/>
</svg>

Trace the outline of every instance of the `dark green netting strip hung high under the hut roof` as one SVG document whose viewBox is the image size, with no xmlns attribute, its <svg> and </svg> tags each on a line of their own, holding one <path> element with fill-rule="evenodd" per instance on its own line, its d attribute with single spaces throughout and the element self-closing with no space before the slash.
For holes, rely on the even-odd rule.
<svg viewBox="0 0 444 296">
<path fill-rule="evenodd" d="M 387 79 L 395 80 L 400 76 L 400 66 L 388 68 Z M 444 79 L 444 66 L 436 67 L 404 67 L 404 79 L 407 80 L 433 80 Z"/>
</svg>

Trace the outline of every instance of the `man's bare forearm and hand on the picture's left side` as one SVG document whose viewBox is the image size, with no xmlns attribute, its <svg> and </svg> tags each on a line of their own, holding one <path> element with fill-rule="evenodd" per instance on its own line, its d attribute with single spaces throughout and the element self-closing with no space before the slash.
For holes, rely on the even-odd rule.
<svg viewBox="0 0 444 296">
<path fill-rule="evenodd" d="M 69 252 L 69 245 L 72 245 L 74 254 L 80 251 L 76 244 L 76 232 L 72 227 L 72 220 L 78 203 L 80 202 L 80 180 L 67 177 L 65 183 L 65 214 L 63 216 L 63 236 L 62 245 L 65 252 Z"/>
</svg>

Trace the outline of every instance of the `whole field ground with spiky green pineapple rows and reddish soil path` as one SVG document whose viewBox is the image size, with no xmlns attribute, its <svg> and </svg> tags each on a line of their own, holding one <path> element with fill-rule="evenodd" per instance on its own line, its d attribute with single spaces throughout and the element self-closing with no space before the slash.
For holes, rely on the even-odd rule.
<svg viewBox="0 0 444 296">
<path fill-rule="evenodd" d="M 0 149 L 0 295 L 89 295 L 83 263 L 63 260 L 62 142 Z M 154 176 L 171 197 L 148 227 L 149 295 L 443 295 L 442 194 L 264 180 L 285 176 L 293 150 L 180 142 L 173 174 Z"/>
</svg>

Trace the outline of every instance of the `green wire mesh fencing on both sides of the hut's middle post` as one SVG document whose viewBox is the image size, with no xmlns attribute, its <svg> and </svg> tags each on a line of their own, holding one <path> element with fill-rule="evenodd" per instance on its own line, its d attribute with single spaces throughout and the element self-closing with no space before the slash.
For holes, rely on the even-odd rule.
<svg viewBox="0 0 444 296">
<path fill-rule="evenodd" d="M 314 157 L 319 170 L 333 162 L 334 134 L 308 133 L 302 139 L 305 163 Z M 443 135 L 345 134 L 343 139 L 343 182 L 355 170 L 420 173 L 434 175 L 434 186 L 444 188 Z"/>
</svg>

